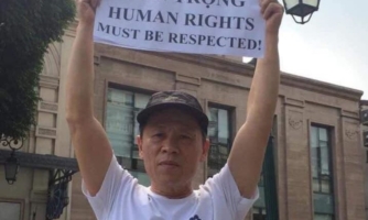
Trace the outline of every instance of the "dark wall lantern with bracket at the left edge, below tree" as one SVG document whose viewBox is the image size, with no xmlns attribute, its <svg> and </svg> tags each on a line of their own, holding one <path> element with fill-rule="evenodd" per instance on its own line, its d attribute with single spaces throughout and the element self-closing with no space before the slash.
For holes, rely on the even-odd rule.
<svg viewBox="0 0 368 220">
<path fill-rule="evenodd" d="M 7 138 L 4 135 L 0 135 L 0 143 L 3 146 L 9 146 L 11 148 L 11 154 L 6 161 L 6 179 L 8 184 L 13 185 L 17 182 L 17 174 L 19 170 L 19 162 L 15 157 L 15 151 L 22 148 L 23 140 L 18 141 L 15 139 Z"/>
</svg>

